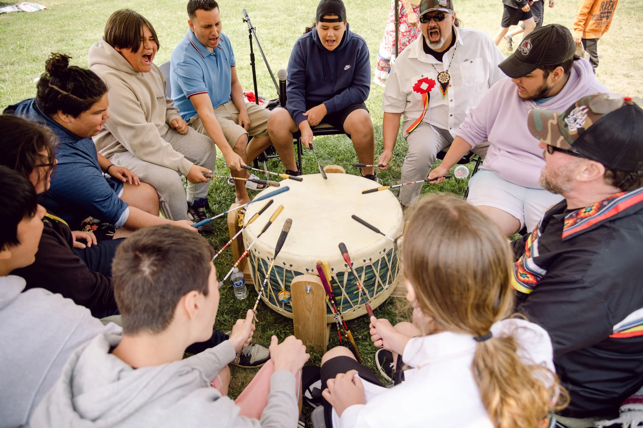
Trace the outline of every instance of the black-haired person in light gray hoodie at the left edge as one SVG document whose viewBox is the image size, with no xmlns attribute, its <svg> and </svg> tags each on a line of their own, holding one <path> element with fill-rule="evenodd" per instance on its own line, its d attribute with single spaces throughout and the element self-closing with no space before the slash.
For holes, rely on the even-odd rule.
<svg viewBox="0 0 643 428">
<path fill-rule="evenodd" d="M 48 174 L 35 185 L 47 182 Z M 45 209 L 34 184 L 0 166 L 0 427 L 26 425 L 35 406 L 53 386 L 69 355 L 101 332 L 89 309 L 42 288 L 24 291 L 26 281 L 9 275 L 35 261 Z M 189 233 L 189 232 L 188 232 Z"/>
</svg>

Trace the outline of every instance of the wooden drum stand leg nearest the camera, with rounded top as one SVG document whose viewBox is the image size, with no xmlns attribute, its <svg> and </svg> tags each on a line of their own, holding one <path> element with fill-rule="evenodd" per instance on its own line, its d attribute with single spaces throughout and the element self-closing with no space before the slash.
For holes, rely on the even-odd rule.
<svg viewBox="0 0 643 428">
<path fill-rule="evenodd" d="M 306 347 L 324 354 L 328 345 L 326 292 L 319 277 L 300 275 L 290 286 L 293 305 L 294 337 Z"/>
</svg>

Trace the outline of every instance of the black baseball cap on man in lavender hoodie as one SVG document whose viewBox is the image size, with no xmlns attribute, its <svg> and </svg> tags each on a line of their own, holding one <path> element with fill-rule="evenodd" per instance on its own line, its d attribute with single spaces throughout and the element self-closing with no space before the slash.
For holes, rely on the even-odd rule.
<svg viewBox="0 0 643 428">
<path fill-rule="evenodd" d="M 548 24 L 532 31 L 518 49 L 498 67 L 512 79 L 531 73 L 541 65 L 560 65 L 574 58 L 572 33 L 561 24 Z"/>
</svg>

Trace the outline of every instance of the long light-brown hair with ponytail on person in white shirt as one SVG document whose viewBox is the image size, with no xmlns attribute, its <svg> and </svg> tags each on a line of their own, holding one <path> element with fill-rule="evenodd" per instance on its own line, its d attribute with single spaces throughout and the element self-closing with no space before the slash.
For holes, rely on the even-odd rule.
<svg viewBox="0 0 643 428">
<path fill-rule="evenodd" d="M 473 205 L 445 194 L 425 196 L 401 246 L 404 277 L 417 304 L 443 329 L 484 336 L 493 323 L 511 315 L 509 243 Z M 554 373 L 525 363 L 518 352 L 513 332 L 476 343 L 471 371 L 496 428 L 539 426 L 566 398 Z"/>
</svg>

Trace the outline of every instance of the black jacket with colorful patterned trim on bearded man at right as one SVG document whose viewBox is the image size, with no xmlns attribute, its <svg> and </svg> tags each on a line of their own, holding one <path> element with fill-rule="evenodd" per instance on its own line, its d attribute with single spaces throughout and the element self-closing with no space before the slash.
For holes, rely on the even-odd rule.
<svg viewBox="0 0 643 428">
<path fill-rule="evenodd" d="M 514 242 L 516 311 L 547 330 L 571 396 L 561 415 L 618 414 L 643 385 L 643 188 L 545 212 Z"/>
</svg>

